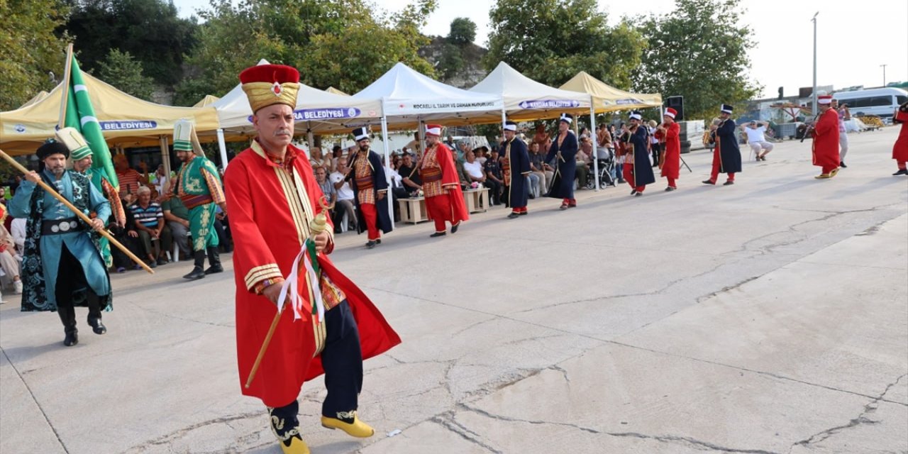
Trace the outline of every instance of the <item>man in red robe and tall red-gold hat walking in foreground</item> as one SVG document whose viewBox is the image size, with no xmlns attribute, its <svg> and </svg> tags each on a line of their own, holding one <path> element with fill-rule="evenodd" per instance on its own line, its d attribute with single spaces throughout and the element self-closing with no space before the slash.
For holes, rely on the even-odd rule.
<svg viewBox="0 0 908 454">
<path fill-rule="evenodd" d="M 333 229 L 312 236 L 321 275 L 306 279 L 298 291 L 315 307 L 321 295 L 323 319 L 303 311 L 283 311 L 247 388 L 252 364 L 275 318 L 285 277 L 291 278 L 310 222 L 326 208 L 306 154 L 291 145 L 293 106 L 300 74 L 290 66 L 252 66 L 240 74 L 252 106 L 258 137 L 230 163 L 224 175 L 231 231 L 235 242 L 237 362 L 242 393 L 268 407 L 271 430 L 285 454 L 308 454 L 302 440 L 297 398 L 303 381 L 325 374 L 328 395 L 321 406 L 321 425 L 354 437 L 374 430 L 357 418 L 362 388 L 362 360 L 400 343 L 379 310 L 325 255 L 333 249 Z M 330 218 L 329 218 L 330 219 Z"/>
</svg>

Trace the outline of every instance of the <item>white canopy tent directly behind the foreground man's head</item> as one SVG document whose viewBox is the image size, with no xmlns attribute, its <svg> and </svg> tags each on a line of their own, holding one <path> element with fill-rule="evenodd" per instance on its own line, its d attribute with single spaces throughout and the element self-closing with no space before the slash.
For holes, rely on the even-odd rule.
<svg viewBox="0 0 908 454">
<path fill-rule="evenodd" d="M 262 59 L 259 64 L 268 64 Z M 224 94 L 221 99 L 211 104 L 217 111 L 220 128 L 217 130 L 218 143 L 224 166 L 227 163 L 227 138 L 245 138 L 255 134 L 252 127 L 252 108 L 242 91 L 242 84 Z M 293 110 L 297 127 L 304 126 L 310 147 L 313 133 L 350 133 L 350 130 L 378 121 L 381 116 L 381 103 L 378 99 L 353 98 L 340 94 L 331 94 L 300 84 L 300 92 Z"/>
</svg>

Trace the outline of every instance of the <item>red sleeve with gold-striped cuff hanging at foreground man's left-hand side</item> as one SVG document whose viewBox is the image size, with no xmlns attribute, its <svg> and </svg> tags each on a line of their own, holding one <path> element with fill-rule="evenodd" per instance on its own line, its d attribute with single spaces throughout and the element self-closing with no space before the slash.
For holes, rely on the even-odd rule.
<svg viewBox="0 0 908 454">
<path fill-rule="evenodd" d="M 283 274 L 255 223 L 252 211 L 255 203 L 252 202 L 250 186 L 250 180 L 254 176 L 251 173 L 248 163 L 235 159 L 227 167 L 224 187 L 231 232 L 233 238 L 240 239 L 233 249 L 233 269 L 237 277 L 242 276 L 246 290 L 254 292 L 256 284 L 283 278 Z"/>
</svg>

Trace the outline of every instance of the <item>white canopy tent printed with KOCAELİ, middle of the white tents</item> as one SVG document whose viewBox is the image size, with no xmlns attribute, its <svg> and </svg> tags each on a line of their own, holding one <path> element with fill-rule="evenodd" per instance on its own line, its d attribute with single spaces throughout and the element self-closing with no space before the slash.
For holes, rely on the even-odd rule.
<svg viewBox="0 0 908 454">
<path fill-rule="evenodd" d="M 388 137 L 389 124 L 398 129 L 417 128 L 420 141 L 425 122 L 447 125 L 489 123 L 489 115 L 500 116 L 504 102 L 499 94 L 471 93 L 419 74 L 406 64 L 395 64 L 387 73 L 353 94 L 362 101 L 380 99 L 381 136 Z M 476 121 L 486 118 L 486 121 Z M 384 143 L 385 167 L 390 165 L 388 141 Z M 387 172 L 387 171 L 386 171 Z M 390 197 L 388 209 L 393 213 Z"/>
</svg>

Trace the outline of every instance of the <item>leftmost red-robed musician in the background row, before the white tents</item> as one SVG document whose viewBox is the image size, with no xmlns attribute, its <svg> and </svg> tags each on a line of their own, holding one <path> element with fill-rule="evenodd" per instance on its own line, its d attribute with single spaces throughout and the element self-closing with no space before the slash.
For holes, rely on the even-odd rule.
<svg viewBox="0 0 908 454">
<path fill-rule="evenodd" d="M 451 233 L 457 233 L 460 222 L 469 220 L 467 205 L 460 191 L 460 179 L 454 167 L 454 157 L 448 145 L 441 143 L 441 125 L 426 125 L 426 153 L 419 164 L 422 192 L 426 196 L 426 212 L 435 222 L 431 238 L 448 234 L 445 222 L 450 222 Z"/>
</svg>

